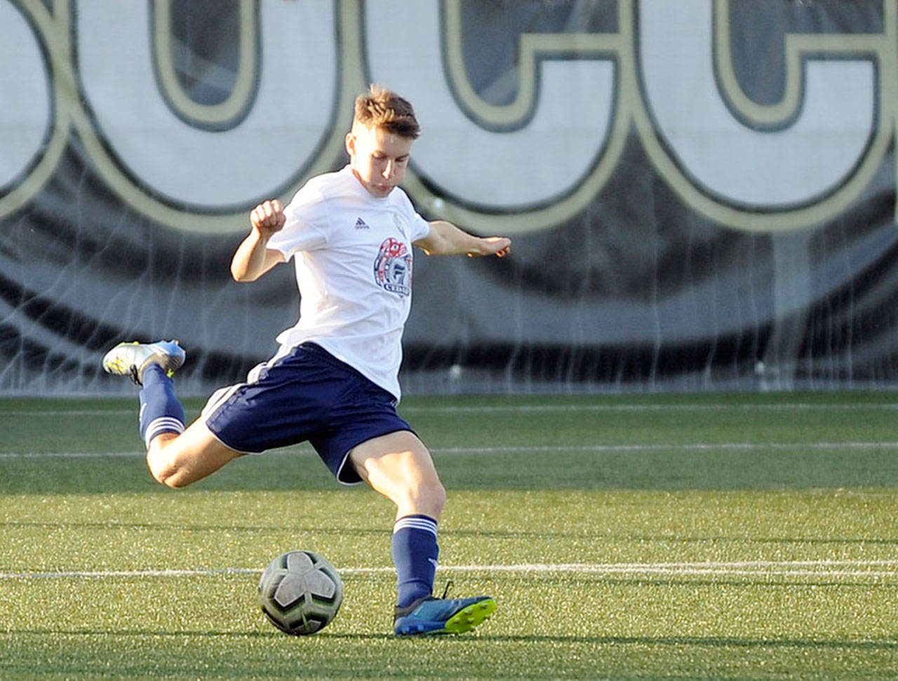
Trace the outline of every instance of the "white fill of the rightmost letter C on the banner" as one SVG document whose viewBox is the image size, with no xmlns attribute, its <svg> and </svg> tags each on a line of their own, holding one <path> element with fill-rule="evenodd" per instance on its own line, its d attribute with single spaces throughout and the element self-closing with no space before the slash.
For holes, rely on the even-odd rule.
<svg viewBox="0 0 898 681">
<path fill-rule="evenodd" d="M 641 0 L 639 62 L 657 132 L 697 186 L 777 209 L 839 187 L 874 133 L 875 73 L 865 60 L 806 60 L 804 98 L 788 127 L 736 120 L 715 81 L 712 1 Z"/>
</svg>

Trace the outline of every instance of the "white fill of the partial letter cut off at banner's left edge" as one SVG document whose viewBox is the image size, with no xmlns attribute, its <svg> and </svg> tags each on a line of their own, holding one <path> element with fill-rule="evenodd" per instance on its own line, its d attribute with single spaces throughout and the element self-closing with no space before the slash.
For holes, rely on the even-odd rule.
<svg viewBox="0 0 898 681">
<path fill-rule="evenodd" d="M 39 160 L 53 124 L 49 65 L 34 31 L 0 0 L 0 193 Z"/>
</svg>

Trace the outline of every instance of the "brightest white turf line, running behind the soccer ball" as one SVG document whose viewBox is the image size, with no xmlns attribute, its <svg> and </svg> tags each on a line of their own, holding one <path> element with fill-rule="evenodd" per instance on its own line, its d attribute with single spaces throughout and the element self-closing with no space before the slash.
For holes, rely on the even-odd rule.
<svg viewBox="0 0 898 681">
<path fill-rule="evenodd" d="M 104 570 L 54 572 L 0 572 L 0 580 L 37 579 L 145 579 L 215 577 L 261 574 L 256 568 L 220 570 Z M 392 567 L 340 568 L 343 575 L 392 574 Z M 450 565 L 439 572 L 489 572 L 491 574 L 589 574 L 613 576 L 667 577 L 802 577 L 827 579 L 898 578 L 898 560 L 877 561 L 744 561 L 706 563 L 520 563 L 512 565 Z"/>
</svg>

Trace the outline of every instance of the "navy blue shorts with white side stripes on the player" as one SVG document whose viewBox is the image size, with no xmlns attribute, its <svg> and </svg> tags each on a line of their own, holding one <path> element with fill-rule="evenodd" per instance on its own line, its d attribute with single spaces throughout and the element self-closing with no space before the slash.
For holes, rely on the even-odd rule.
<svg viewBox="0 0 898 681">
<path fill-rule="evenodd" d="M 313 343 L 260 364 L 246 383 L 217 390 L 203 416 L 218 440 L 242 453 L 309 441 L 344 485 L 362 482 L 349 450 L 411 431 L 395 397 Z"/>
</svg>

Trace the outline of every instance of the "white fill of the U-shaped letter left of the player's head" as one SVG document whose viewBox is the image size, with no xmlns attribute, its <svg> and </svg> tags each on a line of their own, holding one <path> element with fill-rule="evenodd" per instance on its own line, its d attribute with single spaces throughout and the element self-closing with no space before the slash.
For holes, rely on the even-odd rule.
<svg viewBox="0 0 898 681">
<path fill-rule="evenodd" d="M 223 131 L 174 115 L 154 78 L 148 3 L 81 2 L 78 68 L 94 126 L 154 192 L 220 208 L 272 196 L 295 180 L 333 124 L 333 4 L 260 3 L 260 82 L 251 109 Z"/>
</svg>

